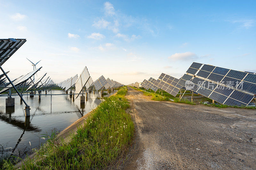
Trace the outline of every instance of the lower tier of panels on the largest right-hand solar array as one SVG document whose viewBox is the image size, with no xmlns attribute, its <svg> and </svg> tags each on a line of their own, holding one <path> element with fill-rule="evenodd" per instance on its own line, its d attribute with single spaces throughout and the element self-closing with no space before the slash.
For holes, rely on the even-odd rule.
<svg viewBox="0 0 256 170">
<path fill-rule="evenodd" d="M 190 76 L 190 75 L 189 75 Z M 191 76 L 192 78 L 193 76 Z M 254 96 L 194 77 L 192 91 L 226 105 L 248 105 Z"/>
</svg>

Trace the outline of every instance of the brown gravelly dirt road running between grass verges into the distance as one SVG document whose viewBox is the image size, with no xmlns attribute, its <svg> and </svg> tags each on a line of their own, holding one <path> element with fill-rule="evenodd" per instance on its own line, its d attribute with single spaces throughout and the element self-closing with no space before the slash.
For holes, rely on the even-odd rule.
<svg viewBox="0 0 256 170">
<path fill-rule="evenodd" d="M 256 110 L 150 100 L 128 87 L 136 137 L 124 169 L 256 169 Z"/>
</svg>

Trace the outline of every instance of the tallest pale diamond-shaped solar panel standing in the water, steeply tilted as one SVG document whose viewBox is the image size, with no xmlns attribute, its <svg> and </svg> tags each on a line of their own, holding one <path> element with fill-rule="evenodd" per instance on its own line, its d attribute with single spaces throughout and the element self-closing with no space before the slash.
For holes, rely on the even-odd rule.
<svg viewBox="0 0 256 170">
<path fill-rule="evenodd" d="M 87 67 L 84 67 L 82 73 L 79 75 L 78 79 L 76 80 L 76 94 L 81 93 L 83 88 L 89 88 L 92 85 L 93 81 L 92 78 L 88 72 Z M 76 95 L 75 98 L 77 98 L 79 95 Z"/>
</svg>

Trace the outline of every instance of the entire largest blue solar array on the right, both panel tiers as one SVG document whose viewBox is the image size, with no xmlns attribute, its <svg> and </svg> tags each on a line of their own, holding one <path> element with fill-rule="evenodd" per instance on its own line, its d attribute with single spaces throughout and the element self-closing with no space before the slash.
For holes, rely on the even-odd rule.
<svg viewBox="0 0 256 170">
<path fill-rule="evenodd" d="M 221 104 L 247 106 L 256 94 L 256 74 L 195 62 L 187 74 L 194 76 L 193 91 Z"/>
</svg>

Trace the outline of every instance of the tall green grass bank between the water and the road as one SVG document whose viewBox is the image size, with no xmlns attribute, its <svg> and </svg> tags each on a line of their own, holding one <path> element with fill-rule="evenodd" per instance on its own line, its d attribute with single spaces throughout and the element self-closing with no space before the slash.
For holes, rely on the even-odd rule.
<svg viewBox="0 0 256 170">
<path fill-rule="evenodd" d="M 21 169 L 105 169 L 124 159 L 134 133 L 131 116 L 125 112 L 129 108 L 126 93 L 122 87 L 116 96 L 105 98 L 69 143 L 57 140 L 56 135 L 50 137 Z M 14 166 L 5 161 L 3 169 Z"/>
</svg>

